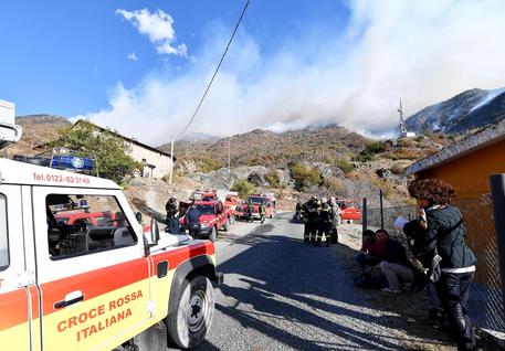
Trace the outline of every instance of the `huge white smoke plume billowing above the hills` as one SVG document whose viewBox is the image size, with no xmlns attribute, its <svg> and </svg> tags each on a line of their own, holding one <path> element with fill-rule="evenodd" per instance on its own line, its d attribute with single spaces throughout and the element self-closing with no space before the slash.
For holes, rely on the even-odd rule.
<svg viewBox="0 0 505 351">
<path fill-rule="evenodd" d="M 333 123 L 379 135 L 398 124 L 400 97 L 410 115 L 469 88 L 505 85 L 502 1 L 364 0 L 348 7 L 344 32 L 294 32 L 277 39 L 273 52 L 242 28 L 189 132 Z M 167 142 L 191 117 L 230 29 L 207 33 L 198 60 L 181 72 L 156 72 L 134 87 L 118 83 L 111 106 L 87 117 L 152 145 Z"/>
</svg>

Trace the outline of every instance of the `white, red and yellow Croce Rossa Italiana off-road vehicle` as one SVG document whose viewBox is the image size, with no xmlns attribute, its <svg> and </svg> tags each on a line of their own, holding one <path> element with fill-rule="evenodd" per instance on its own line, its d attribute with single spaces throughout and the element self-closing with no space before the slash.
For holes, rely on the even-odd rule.
<svg viewBox="0 0 505 351">
<path fill-rule="evenodd" d="M 0 120 L 0 147 L 20 134 L 13 117 Z M 90 208 L 114 216 L 62 220 Z M 211 281 L 222 281 L 213 244 L 160 234 L 152 220 L 145 235 L 137 220 L 113 181 L 0 159 L 0 349 L 200 344 Z"/>
</svg>

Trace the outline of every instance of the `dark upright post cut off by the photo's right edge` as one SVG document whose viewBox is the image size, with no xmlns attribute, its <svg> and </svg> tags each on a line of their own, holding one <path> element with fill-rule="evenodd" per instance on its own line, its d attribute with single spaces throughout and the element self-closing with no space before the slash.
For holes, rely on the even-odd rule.
<svg viewBox="0 0 505 351">
<path fill-rule="evenodd" d="M 499 253 L 499 273 L 502 277 L 502 296 L 505 308 L 505 174 L 490 177 L 493 196 L 494 223 Z"/>
</svg>

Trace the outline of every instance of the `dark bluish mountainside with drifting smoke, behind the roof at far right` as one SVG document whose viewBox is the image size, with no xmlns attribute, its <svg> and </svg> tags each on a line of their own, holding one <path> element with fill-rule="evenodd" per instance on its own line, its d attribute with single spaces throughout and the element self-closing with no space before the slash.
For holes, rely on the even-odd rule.
<svg viewBox="0 0 505 351">
<path fill-rule="evenodd" d="M 505 118 L 505 88 L 471 89 L 406 119 L 409 131 L 464 132 Z"/>
</svg>

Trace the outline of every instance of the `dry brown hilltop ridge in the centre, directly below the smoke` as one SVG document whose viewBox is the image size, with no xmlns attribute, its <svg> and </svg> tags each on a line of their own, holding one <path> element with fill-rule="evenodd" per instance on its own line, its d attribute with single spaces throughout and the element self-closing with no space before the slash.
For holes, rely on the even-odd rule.
<svg viewBox="0 0 505 351">
<path fill-rule="evenodd" d="M 178 159 L 208 159 L 218 164 L 228 163 L 228 150 L 232 164 L 265 166 L 284 168 L 293 161 L 327 161 L 349 159 L 361 150 L 369 140 L 344 127 L 329 125 L 277 134 L 255 129 L 249 132 L 209 141 L 177 141 L 175 155 Z M 170 150 L 170 145 L 160 147 Z"/>
</svg>

